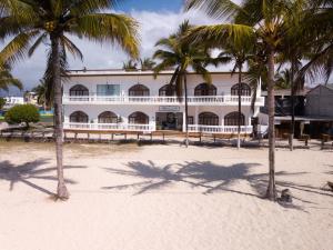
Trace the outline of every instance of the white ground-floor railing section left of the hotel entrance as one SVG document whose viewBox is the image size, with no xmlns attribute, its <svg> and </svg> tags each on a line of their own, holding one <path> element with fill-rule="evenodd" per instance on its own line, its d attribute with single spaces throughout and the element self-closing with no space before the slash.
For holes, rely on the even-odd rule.
<svg viewBox="0 0 333 250">
<path fill-rule="evenodd" d="M 63 123 L 64 129 L 75 130 L 114 130 L 114 131 L 154 131 L 153 124 L 128 124 L 128 123 Z"/>
</svg>

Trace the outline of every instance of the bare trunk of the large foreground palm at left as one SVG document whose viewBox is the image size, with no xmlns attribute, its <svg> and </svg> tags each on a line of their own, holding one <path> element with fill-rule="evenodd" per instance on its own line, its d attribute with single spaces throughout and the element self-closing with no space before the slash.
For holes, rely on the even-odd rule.
<svg viewBox="0 0 333 250">
<path fill-rule="evenodd" d="M 54 132 L 56 132 L 56 153 L 57 153 L 57 174 L 58 174 L 58 189 L 57 197 L 59 199 L 68 199 L 69 192 L 67 190 L 63 178 L 63 164 L 62 164 L 62 141 L 63 141 L 63 128 L 62 128 L 62 91 L 61 91 L 61 70 L 60 70 L 60 43 L 59 36 L 51 34 L 51 59 L 53 68 L 53 87 L 54 87 Z"/>
</svg>

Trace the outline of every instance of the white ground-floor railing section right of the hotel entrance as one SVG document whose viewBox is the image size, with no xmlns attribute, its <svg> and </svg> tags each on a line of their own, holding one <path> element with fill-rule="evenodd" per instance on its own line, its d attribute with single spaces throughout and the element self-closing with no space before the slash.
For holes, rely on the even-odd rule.
<svg viewBox="0 0 333 250">
<path fill-rule="evenodd" d="M 189 124 L 189 132 L 203 133 L 238 133 L 238 126 L 201 126 Z M 241 133 L 252 133 L 252 126 L 241 126 Z"/>
</svg>

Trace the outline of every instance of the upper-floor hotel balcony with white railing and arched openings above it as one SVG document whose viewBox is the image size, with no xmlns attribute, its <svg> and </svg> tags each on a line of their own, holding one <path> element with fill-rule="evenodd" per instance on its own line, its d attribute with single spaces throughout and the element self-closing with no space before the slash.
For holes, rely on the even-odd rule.
<svg viewBox="0 0 333 250">
<path fill-rule="evenodd" d="M 120 93 L 120 86 L 98 86 L 97 92 L 91 92 L 84 86 L 77 84 L 63 94 L 64 104 L 133 104 L 133 106 L 183 106 L 185 98 L 176 97 L 174 86 L 165 84 L 159 89 L 159 96 L 151 94 L 151 90 L 143 84 L 134 84 L 125 92 Z M 194 96 L 188 97 L 189 106 L 236 106 L 239 103 L 239 88 L 241 91 L 242 106 L 250 106 L 253 101 L 251 88 L 242 83 L 231 88 L 230 94 L 218 94 L 213 84 L 201 83 L 195 87 Z M 192 94 L 192 96 L 191 96 Z M 255 106 L 263 106 L 264 98 L 256 97 Z"/>
</svg>

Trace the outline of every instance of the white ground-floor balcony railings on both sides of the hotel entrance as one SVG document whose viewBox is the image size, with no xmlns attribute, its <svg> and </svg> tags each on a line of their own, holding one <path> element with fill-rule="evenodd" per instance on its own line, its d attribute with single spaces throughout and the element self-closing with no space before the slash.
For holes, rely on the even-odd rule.
<svg viewBox="0 0 333 250">
<path fill-rule="evenodd" d="M 92 131 L 138 131 L 138 132 L 153 132 L 155 124 L 132 124 L 132 123 L 63 123 L 63 128 L 68 130 L 92 130 Z M 189 124 L 189 132 L 202 133 L 238 133 L 236 126 L 200 126 Z M 252 126 L 242 126 L 241 133 L 252 133 Z"/>
</svg>

